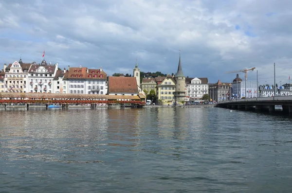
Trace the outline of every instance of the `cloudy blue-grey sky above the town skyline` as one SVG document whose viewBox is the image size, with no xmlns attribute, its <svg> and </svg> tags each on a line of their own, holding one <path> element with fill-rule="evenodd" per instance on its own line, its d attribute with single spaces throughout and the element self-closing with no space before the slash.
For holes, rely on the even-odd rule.
<svg viewBox="0 0 292 193">
<path fill-rule="evenodd" d="M 292 78 L 291 0 L 0 0 L 0 64 L 47 62 L 132 73 L 183 72 L 260 84 Z M 3 67 L 2 67 L 3 68 Z M 0 68 L 0 69 L 2 69 Z M 256 70 L 248 73 L 256 81 Z M 239 72 L 240 77 L 244 73 Z"/>
</svg>

